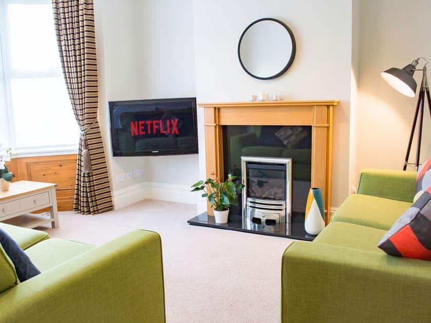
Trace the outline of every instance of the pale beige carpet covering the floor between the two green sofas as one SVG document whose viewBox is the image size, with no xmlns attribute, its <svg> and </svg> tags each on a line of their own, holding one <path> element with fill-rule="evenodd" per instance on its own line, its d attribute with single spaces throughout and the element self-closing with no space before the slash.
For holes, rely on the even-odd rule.
<svg viewBox="0 0 431 323">
<path fill-rule="evenodd" d="M 194 227 L 189 204 L 145 200 L 101 215 L 60 213 L 61 237 L 100 245 L 133 229 L 159 232 L 167 322 L 279 322 L 280 268 L 292 240 Z"/>
</svg>

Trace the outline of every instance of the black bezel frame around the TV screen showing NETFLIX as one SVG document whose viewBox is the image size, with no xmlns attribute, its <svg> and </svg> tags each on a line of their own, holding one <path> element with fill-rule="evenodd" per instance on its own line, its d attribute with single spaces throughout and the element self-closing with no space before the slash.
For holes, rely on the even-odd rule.
<svg viewBox="0 0 431 323">
<path fill-rule="evenodd" d="M 139 156 L 172 156 L 172 155 L 195 155 L 199 153 L 199 145 L 197 140 L 197 145 L 192 152 L 181 152 L 177 149 L 176 152 L 142 152 L 142 153 L 133 153 L 133 154 L 123 154 L 118 153 L 115 149 L 115 134 L 114 134 L 114 120 L 113 120 L 113 108 L 117 105 L 127 105 L 127 104 L 141 104 L 141 103 L 169 103 L 169 102 L 191 102 L 193 107 L 193 124 L 194 133 L 193 135 L 198 139 L 198 109 L 196 104 L 195 97 L 177 97 L 177 98 L 163 98 L 163 99 L 143 99 L 143 100 L 122 100 L 122 101 L 109 101 L 109 130 L 111 133 L 111 148 L 112 148 L 112 156 L 113 157 L 139 157 Z"/>
</svg>

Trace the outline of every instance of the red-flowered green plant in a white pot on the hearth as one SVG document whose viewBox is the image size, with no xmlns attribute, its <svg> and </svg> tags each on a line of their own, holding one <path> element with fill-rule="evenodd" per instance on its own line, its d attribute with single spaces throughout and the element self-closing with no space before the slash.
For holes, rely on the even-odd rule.
<svg viewBox="0 0 431 323">
<path fill-rule="evenodd" d="M 211 175 L 215 175 L 212 173 Z M 241 181 L 234 182 L 237 176 L 229 174 L 226 181 L 220 181 L 216 176 L 215 179 L 208 178 L 207 180 L 200 180 L 198 183 L 193 184 L 191 192 L 203 191 L 202 197 L 207 198 L 211 208 L 214 210 L 214 217 L 216 223 L 227 223 L 229 215 L 229 207 L 231 205 L 238 205 L 238 195 L 244 185 Z"/>
</svg>

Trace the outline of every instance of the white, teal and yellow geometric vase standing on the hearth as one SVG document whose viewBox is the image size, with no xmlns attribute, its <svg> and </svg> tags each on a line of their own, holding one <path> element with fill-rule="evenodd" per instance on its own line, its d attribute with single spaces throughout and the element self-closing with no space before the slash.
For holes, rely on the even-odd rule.
<svg viewBox="0 0 431 323">
<path fill-rule="evenodd" d="M 311 235 L 318 235 L 325 228 L 325 211 L 320 188 L 312 187 L 308 192 L 305 208 L 305 231 Z"/>
</svg>

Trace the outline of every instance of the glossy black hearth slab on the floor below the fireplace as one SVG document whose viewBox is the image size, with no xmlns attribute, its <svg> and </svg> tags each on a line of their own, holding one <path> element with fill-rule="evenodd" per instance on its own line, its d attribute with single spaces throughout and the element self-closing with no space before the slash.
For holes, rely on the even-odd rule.
<svg viewBox="0 0 431 323">
<path fill-rule="evenodd" d="M 255 234 L 271 235 L 283 238 L 291 238 L 298 240 L 312 241 L 316 237 L 310 235 L 304 230 L 304 213 L 293 212 L 292 223 L 280 224 L 278 227 L 267 227 L 266 230 L 245 229 L 242 225 L 242 217 L 240 215 L 229 215 L 229 221 L 226 224 L 215 223 L 213 216 L 208 216 L 207 212 L 199 214 L 187 221 L 192 226 L 210 227 L 216 229 L 233 230 L 241 232 L 249 232 Z"/>
</svg>

